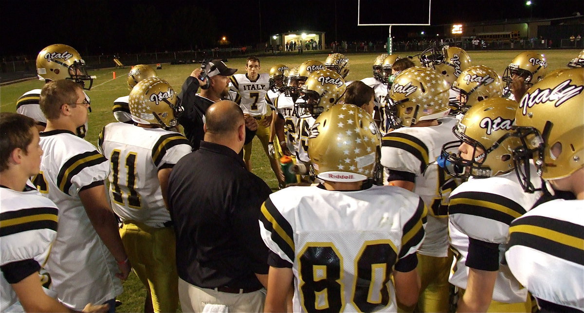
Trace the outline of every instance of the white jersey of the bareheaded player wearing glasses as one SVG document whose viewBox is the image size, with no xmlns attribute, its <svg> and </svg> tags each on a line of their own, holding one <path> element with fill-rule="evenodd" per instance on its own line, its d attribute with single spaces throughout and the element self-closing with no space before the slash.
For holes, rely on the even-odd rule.
<svg viewBox="0 0 584 313">
<path fill-rule="evenodd" d="M 44 152 L 35 185 L 59 208 L 57 239 L 46 265 L 51 290 L 81 311 L 89 302 L 103 303 L 122 291 L 116 260 L 79 198 L 80 190 L 103 185 L 109 162 L 92 144 L 66 130 L 40 133 L 40 147 Z"/>
</svg>

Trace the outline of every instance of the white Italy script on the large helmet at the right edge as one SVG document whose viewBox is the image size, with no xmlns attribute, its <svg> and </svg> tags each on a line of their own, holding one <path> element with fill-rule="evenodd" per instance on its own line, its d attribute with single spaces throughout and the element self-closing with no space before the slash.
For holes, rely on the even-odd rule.
<svg viewBox="0 0 584 313">
<path fill-rule="evenodd" d="M 584 89 L 584 86 L 570 85 L 571 82 L 572 79 L 567 79 L 566 81 L 563 81 L 561 84 L 555 86 L 554 89 L 537 88 L 531 93 L 526 93 L 519 102 L 519 107 L 522 109 L 522 114 L 527 115 L 527 109 L 534 105 L 539 105 L 541 103 L 548 101 L 555 101 L 554 106 L 558 107 L 562 105 L 562 103 L 582 93 L 582 89 Z"/>
</svg>

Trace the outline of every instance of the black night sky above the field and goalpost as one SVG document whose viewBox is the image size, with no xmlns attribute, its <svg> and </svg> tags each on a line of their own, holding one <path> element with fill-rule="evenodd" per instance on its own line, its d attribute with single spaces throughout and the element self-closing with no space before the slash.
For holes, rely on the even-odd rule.
<svg viewBox="0 0 584 313">
<path fill-rule="evenodd" d="M 376 8 L 369 18 L 394 18 L 395 23 L 423 19 L 416 13 L 427 11 L 427 6 L 415 5 L 421 0 L 361 1 L 371 2 L 363 7 Z M 584 14 L 582 0 L 532 1 L 530 12 L 524 0 L 432 0 L 431 23 Z M 384 40 L 388 31 L 386 26 L 358 27 L 357 0 L 2 0 L 0 9 L 0 55 L 36 55 L 53 43 L 69 44 L 82 55 L 191 50 L 215 47 L 221 36 L 232 46 L 250 46 L 293 30 L 324 31 L 328 42 L 376 41 Z M 420 27 L 395 26 L 392 33 L 405 37 Z"/>
</svg>

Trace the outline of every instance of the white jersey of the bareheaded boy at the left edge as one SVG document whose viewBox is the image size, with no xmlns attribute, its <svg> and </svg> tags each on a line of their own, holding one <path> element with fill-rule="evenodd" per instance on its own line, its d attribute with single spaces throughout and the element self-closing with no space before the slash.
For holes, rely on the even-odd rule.
<svg viewBox="0 0 584 313">
<path fill-rule="evenodd" d="M 57 236 L 57 206 L 41 196 L 30 182 L 22 192 L 0 187 L 0 198 L 1 265 L 33 259 L 43 266 Z M 4 274 L 0 274 L 0 291 L 1 312 L 19 307 L 18 297 Z"/>
</svg>

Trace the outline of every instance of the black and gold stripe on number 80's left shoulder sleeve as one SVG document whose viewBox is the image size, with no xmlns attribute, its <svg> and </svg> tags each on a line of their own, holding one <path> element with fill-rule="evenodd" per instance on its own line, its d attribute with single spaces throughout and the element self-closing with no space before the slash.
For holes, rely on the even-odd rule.
<svg viewBox="0 0 584 313">
<path fill-rule="evenodd" d="M 284 218 L 280 211 L 274 206 L 272 200 L 267 198 L 267 200 L 262 204 L 262 214 L 260 214 L 259 220 L 263 223 L 263 227 L 266 228 L 272 235 L 272 241 L 275 242 L 288 256 L 292 262 L 294 262 L 294 236 L 292 227 L 290 223 Z"/>
</svg>

